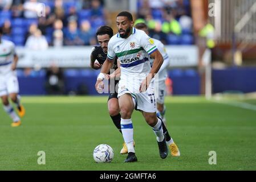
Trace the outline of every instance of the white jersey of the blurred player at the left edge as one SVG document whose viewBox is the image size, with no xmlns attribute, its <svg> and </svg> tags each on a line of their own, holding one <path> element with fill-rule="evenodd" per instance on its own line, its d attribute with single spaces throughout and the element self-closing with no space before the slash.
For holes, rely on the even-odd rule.
<svg viewBox="0 0 256 182">
<path fill-rule="evenodd" d="M 0 77 L 12 74 L 11 64 L 15 55 L 14 43 L 9 40 L 0 42 Z"/>
</svg>

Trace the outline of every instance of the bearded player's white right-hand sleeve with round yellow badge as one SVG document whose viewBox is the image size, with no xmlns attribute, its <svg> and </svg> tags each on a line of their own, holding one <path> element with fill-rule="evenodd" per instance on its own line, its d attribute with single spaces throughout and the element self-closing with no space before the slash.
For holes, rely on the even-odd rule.
<svg viewBox="0 0 256 182">
<path fill-rule="evenodd" d="M 149 55 L 157 50 L 154 40 L 151 39 L 145 32 L 141 32 L 140 46 L 143 47 Z"/>
</svg>

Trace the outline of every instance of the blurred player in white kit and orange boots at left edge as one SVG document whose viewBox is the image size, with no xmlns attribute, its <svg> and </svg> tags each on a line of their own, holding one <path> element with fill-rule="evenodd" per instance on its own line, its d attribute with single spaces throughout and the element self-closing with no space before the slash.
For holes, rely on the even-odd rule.
<svg viewBox="0 0 256 182">
<path fill-rule="evenodd" d="M 21 105 L 19 93 L 19 84 L 16 75 L 18 56 L 15 53 L 15 46 L 9 40 L 2 40 L 2 28 L 0 28 L 0 97 L 3 103 L 3 109 L 13 119 L 11 126 L 21 125 L 21 119 L 25 115 L 25 108 Z M 9 97 L 17 107 L 17 113 L 9 102 Z"/>
</svg>

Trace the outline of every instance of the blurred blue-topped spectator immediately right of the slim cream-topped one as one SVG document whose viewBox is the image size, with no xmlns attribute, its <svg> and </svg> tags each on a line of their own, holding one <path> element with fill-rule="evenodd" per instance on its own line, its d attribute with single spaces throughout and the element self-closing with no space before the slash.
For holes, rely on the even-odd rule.
<svg viewBox="0 0 256 182">
<path fill-rule="evenodd" d="M 83 45 L 83 41 L 79 37 L 78 23 L 74 20 L 68 23 L 68 30 L 64 37 L 64 44 L 66 46 Z"/>
</svg>

